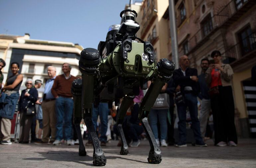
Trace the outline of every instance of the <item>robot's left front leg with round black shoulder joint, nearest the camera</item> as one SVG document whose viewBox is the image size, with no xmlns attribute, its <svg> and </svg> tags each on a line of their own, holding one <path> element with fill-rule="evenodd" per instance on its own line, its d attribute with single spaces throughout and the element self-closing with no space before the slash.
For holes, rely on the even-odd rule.
<svg viewBox="0 0 256 168">
<path fill-rule="evenodd" d="M 79 60 L 79 69 L 82 73 L 82 100 L 81 108 L 84 121 L 93 143 L 93 165 L 104 166 L 106 158 L 100 147 L 96 131 L 92 123 L 92 103 L 94 97 L 95 81 L 98 81 L 99 51 L 93 48 L 82 50 Z"/>
</svg>

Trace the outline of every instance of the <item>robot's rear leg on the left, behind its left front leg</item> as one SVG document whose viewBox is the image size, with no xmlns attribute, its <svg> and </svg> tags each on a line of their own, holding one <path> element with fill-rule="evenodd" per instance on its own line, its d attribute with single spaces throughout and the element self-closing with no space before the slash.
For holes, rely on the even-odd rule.
<svg viewBox="0 0 256 168">
<path fill-rule="evenodd" d="M 82 106 L 81 106 L 81 93 L 82 93 L 82 80 L 76 79 L 72 83 L 71 92 L 73 94 L 74 100 L 74 109 L 73 109 L 73 123 L 75 127 L 75 131 L 77 134 L 77 138 L 79 141 L 79 156 L 86 156 L 85 147 L 83 144 L 81 129 L 80 129 L 80 122 L 82 120 Z"/>
</svg>

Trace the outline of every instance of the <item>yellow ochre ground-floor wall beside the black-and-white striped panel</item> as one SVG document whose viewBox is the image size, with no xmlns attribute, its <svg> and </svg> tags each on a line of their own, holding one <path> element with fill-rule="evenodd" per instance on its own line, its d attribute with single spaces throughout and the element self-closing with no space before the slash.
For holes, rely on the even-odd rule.
<svg viewBox="0 0 256 168">
<path fill-rule="evenodd" d="M 250 78 L 251 78 L 251 68 L 239 73 L 234 73 L 234 76 L 233 76 L 233 91 L 234 91 L 234 101 L 236 106 L 235 108 L 237 108 L 238 112 L 240 113 L 240 118 L 248 117 L 247 109 L 245 105 L 242 81 Z"/>
</svg>

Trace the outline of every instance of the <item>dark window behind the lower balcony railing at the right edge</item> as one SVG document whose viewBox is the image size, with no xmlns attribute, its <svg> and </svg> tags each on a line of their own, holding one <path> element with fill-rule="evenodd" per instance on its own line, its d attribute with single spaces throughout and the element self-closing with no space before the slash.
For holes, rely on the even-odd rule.
<svg viewBox="0 0 256 168">
<path fill-rule="evenodd" d="M 256 33 L 252 33 L 250 26 L 238 33 L 242 55 L 256 50 Z"/>
</svg>

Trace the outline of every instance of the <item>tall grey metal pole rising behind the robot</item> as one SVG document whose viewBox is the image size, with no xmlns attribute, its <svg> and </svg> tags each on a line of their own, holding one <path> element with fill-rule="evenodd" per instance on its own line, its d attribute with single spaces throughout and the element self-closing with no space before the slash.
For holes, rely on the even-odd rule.
<svg viewBox="0 0 256 168">
<path fill-rule="evenodd" d="M 180 67 L 179 65 L 179 55 L 178 55 L 178 40 L 177 40 L 177 27 L 176 27 L 176 17 L 174 9 L 174 0 L 169 0 L 169 18 L 170 18 L 170 32 L 172 40 L 172 58 L 175 63 L 176 69 Z"/>
</svg>

